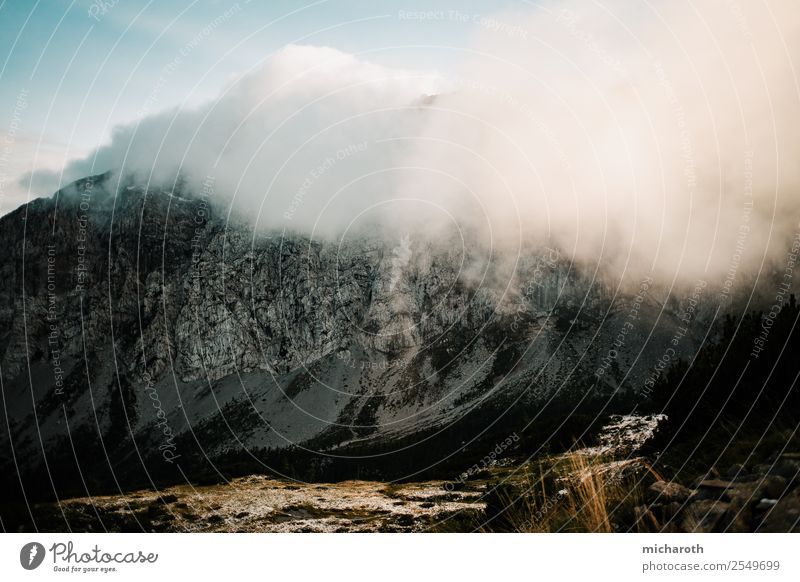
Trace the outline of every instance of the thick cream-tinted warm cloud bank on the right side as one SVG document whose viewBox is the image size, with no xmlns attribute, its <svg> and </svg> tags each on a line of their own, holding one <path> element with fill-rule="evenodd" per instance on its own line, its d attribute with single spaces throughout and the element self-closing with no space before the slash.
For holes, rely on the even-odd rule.
<svg viewBox="0 0 800 582">
<path fill-rule="evenodd" d="M 500 241 L 538 236 L 636 276 L 720 277 L 739 254 L 755 268 L 798 231 L 798 12 L 605 2 L 498 15 L 437 102 L 453 113 L 428 126 L 465 147 L 419 158 L 480 193 Z"/>
</svg>

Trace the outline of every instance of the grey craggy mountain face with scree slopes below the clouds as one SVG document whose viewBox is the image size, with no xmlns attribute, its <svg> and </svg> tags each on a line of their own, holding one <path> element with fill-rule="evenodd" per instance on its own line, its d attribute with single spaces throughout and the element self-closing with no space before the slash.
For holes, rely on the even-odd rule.
<svg viewBox="0 0 800 582">
<path fill-rule="evenodd" d="M 91 455 L 117 478 L 190 445 L 334 451 L 489 405 L 635 398 L 682 307 L 545 247 L 511 265 L 447 238 L 260 233 L 202 194 L 109 175 L 6 215 L 0 243 L 0 463 L 24 474 Z"/>
</svg>

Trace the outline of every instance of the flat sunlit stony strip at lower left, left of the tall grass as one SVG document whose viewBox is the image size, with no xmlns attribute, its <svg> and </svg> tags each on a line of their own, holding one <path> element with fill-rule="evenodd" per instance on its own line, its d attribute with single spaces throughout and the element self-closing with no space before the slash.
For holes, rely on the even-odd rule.
<svg viewBox="0 0 800 582">
<path fill-rule="evenodd" d="M 424 532 L 480 523 L 484 484 L 305 484 L 251 476 L 230 483 L 70 499 L 37 509 L 47 531 Z"/>
</svg>

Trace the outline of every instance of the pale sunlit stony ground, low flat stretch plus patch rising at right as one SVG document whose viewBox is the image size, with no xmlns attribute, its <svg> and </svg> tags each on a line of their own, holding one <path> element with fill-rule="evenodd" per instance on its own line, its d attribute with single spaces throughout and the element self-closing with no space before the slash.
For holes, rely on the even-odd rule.
<svg viewBox="0 0 800 582">
<path fill-rule="evenodd" d="M 585 471 L 545 459 L 563 495 L 591 472 L 607 479 L 639 475 L 641 444 L 660 419 L 617 416 L 602 427 L 598 446 L 569 453 L 601 459 Z M 492 457 L 448 481 L 303 483 L 262 475 L 211 486 L 180 485 L 39 504 L 46 531 L 404 532 L 495 531 L 490 506 L 504 489 L 524 489 L 532 465 Z M 501 528 L 502 529 L 502 528 Z M 530 527 L 510 528 L 526 531 Z"/>
</svg>

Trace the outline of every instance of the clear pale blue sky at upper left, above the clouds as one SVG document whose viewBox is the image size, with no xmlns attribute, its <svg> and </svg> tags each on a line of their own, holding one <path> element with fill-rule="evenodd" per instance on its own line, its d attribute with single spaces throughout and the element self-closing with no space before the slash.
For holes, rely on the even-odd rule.
<svg viewBox="0 0 800 582">
<path fill-rule="evenodd" d="M 533 3 L 440 0 L 415 14 L 431 4 L 0 0 L 0 214 L 50 194 L 19 184 L 30 171 L 86 155 L 116 125 L 206 102 L 287 44 L 446 74 L 482 15 Z"/>
</svg>

